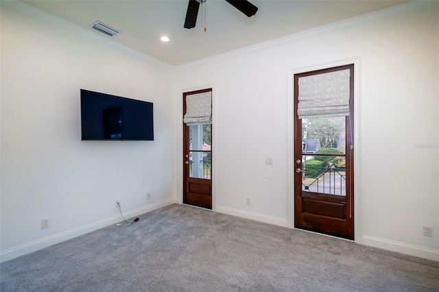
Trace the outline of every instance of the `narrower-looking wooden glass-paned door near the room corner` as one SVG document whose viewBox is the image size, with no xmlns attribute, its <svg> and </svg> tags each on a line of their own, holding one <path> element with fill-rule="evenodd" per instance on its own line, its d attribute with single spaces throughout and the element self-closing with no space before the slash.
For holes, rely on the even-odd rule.
<svg viewBox="0 0 439 292">
<path fill-rule="evenodd" d="M 187 97 L 208 95 L 212 88 L 183 93 L 183 115 Z M 211 106 L 211 105 L 210 105 Z M 195 105 L 197 107 L 197 105 Z M 211 109 L 210 109 L 211 110 Z M 183 203 L 212 208 L 212 124 L 183 123 Z"/>
</svg>

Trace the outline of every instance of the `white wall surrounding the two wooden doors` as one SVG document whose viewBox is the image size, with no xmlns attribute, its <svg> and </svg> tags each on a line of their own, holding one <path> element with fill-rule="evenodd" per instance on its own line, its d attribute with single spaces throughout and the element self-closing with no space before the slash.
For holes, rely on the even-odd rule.
<svg viewBox="0 0 439 292">
<path fill-rule="evenodd" d="M 176 129 L 181 93 L 215 84 L 214 210 L 287 226 L 288 72 L 356 58 L 356 240 L 439 260 L 438 14 L 437 5 L 408 3 L 179 66 Z M 423 226 L 434 236 L 423 236 Z"/>
</svg>

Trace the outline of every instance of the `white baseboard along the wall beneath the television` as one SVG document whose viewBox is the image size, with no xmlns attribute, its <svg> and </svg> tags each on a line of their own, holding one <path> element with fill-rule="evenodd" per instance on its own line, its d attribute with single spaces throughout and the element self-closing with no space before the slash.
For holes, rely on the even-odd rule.
<svg viewBox="0 0 439 292">
<path fill-rule="evenodd" d="M 178 203 L 178 198 L 174 197 L 171 199 L 166 199 L 161 202 L 157 202 L 155 204 L 143 206 L 141 208 L 137 208 L 134 210 L 130 210 L 128 212 L 124 212 L 123 216 L 127 218 L 136 217 L 142 215 L 147 212 L 151 212 L 158 208 L 163 208 L 170 204 Z M 54 234 L 51 236 L 47 236 L 43 239 L 38 239 L 36 241 L 32 241 L 29 243 L 25 243 L 23 245 L 19 245 L 16 247 L 12 247 L 8 250 L 3 250 L 0 252 L 0 263 L 5 262 L 6 260 L 11 260 L 12 258 L 16 258 L 18 256 L 23 256 L 25 254 L 29 254 L 31 252 L 36 252 L 37 250 L 41 250 L 45 247 L 49 247 L 51 245 L 55 245 L 56 243 L 60 243 L 62 241 L 67 241 L 69 239 L 73 239 L 77 236 L 86 234 L 88 232 L 92 232 L 112 224 L 118 223 L 121 221 L 121 215 L 115 215 L 112 217 L 108 217 L 106 219 L 102 219 L 99 221 L 95 221 L 90 224 L 86 224 L 84 226 L 80 226 L 78 228 L 73 228 L 71 230 L 67 230 L 64 232 L 60 232 L 58 234 Z"/>
</svg>

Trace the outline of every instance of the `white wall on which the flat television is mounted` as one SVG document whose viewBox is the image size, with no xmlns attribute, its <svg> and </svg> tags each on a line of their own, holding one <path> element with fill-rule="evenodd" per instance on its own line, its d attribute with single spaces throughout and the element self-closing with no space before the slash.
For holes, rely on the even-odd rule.
<svg viewBox="0 0 439 292">
<path fill-rule="evenodd" d="M 176 202 L 170 66 L 32 13 L 1 8 L 1 260 Z M 82 142 L 80 88 L 152 101 L 154 141 Z"/>
</svg>

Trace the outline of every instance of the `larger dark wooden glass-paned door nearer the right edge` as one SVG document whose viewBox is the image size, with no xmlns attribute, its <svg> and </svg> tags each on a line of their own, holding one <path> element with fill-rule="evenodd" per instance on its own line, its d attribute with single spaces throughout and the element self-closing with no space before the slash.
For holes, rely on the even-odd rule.
<svg viewBox="0 0 439 292">
<path fill-rule="evenodd" d="M 351 64 L 294 75 L 294 226 L 347 239 L 354 238 L 353 68 Z M 342 79 L 334 78 L 340 74 L 348 74 L 347 89 Z M 304 84 L 316 80 L 321 87 Z M 337 95 L 346 96 L 345 113 L 337 113 L 343 108 L 337 102 L 331 104 Z M 309 115 L 300 117 L 300 102 L 311 104 Z M 319 104 L 315 108 L 322 106 L 315 115 L 313 102 Z"/>
</svg>

